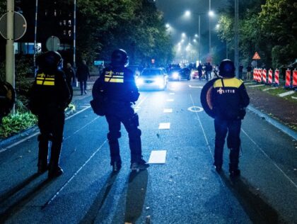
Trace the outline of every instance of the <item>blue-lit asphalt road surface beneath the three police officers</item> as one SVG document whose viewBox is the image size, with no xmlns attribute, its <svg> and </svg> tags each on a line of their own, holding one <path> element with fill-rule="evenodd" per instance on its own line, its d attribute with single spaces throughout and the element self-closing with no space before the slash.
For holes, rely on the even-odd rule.
<svg viewBox="0 0 297 224">
<path fill-rule="evenodd" d="M 61 177 L 48 181 L 47 174 L 36 174 L 36 134 L 4 145 L 0 223 L 297 223 L 296 141 L 248 111 L 242 175 L 228 176 L 226 147 L 223 173 L 217 174 L 214 121 L 200 111 L 203 84 L 170 82 L 165 91 L 141 92 L 135 110 L 144 159 L 152 150 L 167 150 L 165 164 L 143 172 L 129 170 L 122 127 L 123 167 L 112 175 L 107 123 L 91 110 L 91 96 L 66 120 Z M 170 123 L 170 129 L 158 129 L 160 123 Z"/>
</svg>

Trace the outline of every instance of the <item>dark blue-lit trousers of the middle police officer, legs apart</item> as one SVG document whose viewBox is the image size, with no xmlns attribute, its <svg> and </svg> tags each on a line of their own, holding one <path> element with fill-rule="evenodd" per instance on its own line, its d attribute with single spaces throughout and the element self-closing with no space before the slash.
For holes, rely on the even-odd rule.
<svg viewBox="0 0 297 224">
<path fill-rule="evenodd" d="M 138 162 L 141 159 L 141 130 L 137 128 L 139 126 L 137 113 L 134 113 L 133 108 L 129 104 L 122 104 L 122 106 L 117 104 L 114 108 L 107 110 L 105 117 L 109 127 L 107 139 L 110 145 L 110 164 L 121 162 L 118 141 L 121 137 L 121 123 L 123 123 L 124 128 L 126 128 L 129 134 L 131 162 Z"/>
</svg>

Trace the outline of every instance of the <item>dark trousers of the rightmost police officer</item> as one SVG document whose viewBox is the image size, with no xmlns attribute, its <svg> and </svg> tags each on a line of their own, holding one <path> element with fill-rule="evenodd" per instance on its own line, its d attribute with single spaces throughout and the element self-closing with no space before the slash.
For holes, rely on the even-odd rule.
<svg viewBox="0 0 297 224">
<path fill-rule="evenodd" d="M 230 169 L 238 169 L 240 150 L 240 127 L 241 120 L 226 121 L 220 118 L 214 119 L 216 139 L 214 147 L 214 165 L 221 167 L 223 164 L 223 145 L 227 137 L 227 146 L 230 149 Z"/>
</svg>

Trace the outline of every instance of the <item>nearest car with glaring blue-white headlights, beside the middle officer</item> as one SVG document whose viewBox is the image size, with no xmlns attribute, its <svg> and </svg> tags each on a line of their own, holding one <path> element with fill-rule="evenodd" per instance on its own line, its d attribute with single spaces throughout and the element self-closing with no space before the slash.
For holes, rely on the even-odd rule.
<svg viewBox="0 0 297 224">
<path fill-rule="evenodd" d="M 139 89 L 166 89 L 168 74 L 164 68 L 145 68 L 139 77 L 136 77 L 136 85 Z"/>
</svg>

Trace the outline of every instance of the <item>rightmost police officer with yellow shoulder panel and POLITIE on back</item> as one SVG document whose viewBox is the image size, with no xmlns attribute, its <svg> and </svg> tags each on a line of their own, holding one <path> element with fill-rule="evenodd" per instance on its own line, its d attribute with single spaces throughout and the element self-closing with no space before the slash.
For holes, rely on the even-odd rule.
<svg viewBox="0 0 297 224">
<path fill-rule="evenodd" d="M 223 145 L 227 137 L 229 154 L 229 172 L 231 177 L 238 177 L 240 169 L 240 126 L 245 116 L 245 108 L 250 98 L 243 81 L 235 78 L 235 67 L 231 60 L 223 60 L 219 66 L 221 79 L 214 82 L 211 102 L 214 106 L 214 128 L 216 131 L 214 148 L 214 166 L 217 172 L 221 171 L 223 164 Z"/>
</svg>

